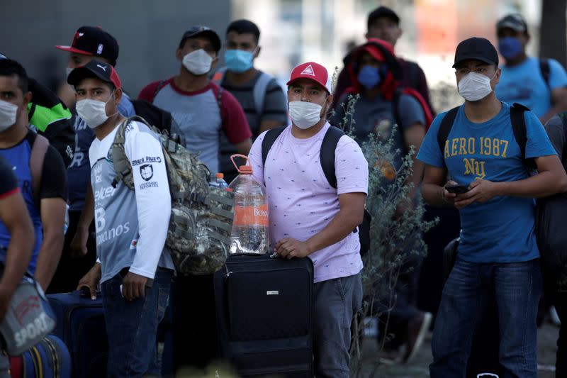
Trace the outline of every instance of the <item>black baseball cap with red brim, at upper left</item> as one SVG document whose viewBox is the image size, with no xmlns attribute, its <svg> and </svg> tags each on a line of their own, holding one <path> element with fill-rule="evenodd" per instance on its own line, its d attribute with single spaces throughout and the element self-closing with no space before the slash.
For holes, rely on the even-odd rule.
<svg viewBox="0 0 567 378">
<path fill-rule="evenodd" d="M 101 28 L 94 26 L 82 26 L 76 32 L 70 46 L 57 45 L 56 48 L 77 54 L 103 57 L 116 65 L 118 59 L 118 42 L 112 35 Z"/>
</svg>

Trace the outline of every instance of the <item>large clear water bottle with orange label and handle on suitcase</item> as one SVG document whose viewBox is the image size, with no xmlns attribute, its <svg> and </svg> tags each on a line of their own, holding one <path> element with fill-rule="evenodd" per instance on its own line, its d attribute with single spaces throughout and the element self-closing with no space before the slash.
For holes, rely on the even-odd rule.
<svg viewBox="0 0 567 378">
<path fill-rule="evenodd" d="M 248 165 L 237 167 L 235 157 L 243 157 Z M 235 193 L 235 218 L 230 236 L 230 253 L 262 255 L 269 250 L 268 197 L 264 185 L 252 176 L 252 166 L 245 155 L 232 155 L 238 176 L 229 188 Z"/>
</svg>

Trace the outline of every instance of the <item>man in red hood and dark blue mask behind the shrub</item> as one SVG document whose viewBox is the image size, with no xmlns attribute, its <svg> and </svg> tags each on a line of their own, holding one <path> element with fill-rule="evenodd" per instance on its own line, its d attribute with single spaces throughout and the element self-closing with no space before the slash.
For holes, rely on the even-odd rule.
<svg viewBox="0 0 567 378">
<path fill-rule="evenodd" d="M 355 49 L 347 70 L 352 87 L 339 99 L 332 125 L 342 126 L 345 130 L 354 125 L 354 139 L 363 146 L 373 134 L 383 142 L 393 138 L 391 153 L 394 158 L 382 169 L 386 186 L 395 181 L 395 172 L 402 166 L 403 158 L 410 148 L 415 148 L 412 155 L 413 174 L 408 178 L 413 183 L 410 198 L 415 198 L 423 174 L 423 164 L 415 159 L 415 155 L 425 137 L 426 126 L 431 121 L 424 99 L 417 91 L 400 87 L 401 67 L 392 45 L 385 40 L 369 38 L 367 43 Z M 349 99 L 357 94 L 360 97 L 354 104 L 354 112 L 347 111 Z M 396 150 L 400 153 L 396 153 Z M 400 206 L 398 216 L 410 211 L 412 206 L 413 201 Z M 398 280 L 397 301 L 391 310 L 391 326 L 387 330 L 388 333 L 395 334 L 388 345 L 390 350 L 396 352 L 400 345 L 406 345 L 404 361 L 410 360 L 420 348 L 432 320 L 431 313 L 420 311 L 414 304 L 417 291 L 415 284 L 419 275 L 419 269 L 415 267 L 418 264 L 419 262 L 412 262 L 412 272 Z M 386 309 L 386 304 L 384 305 Z"/>
</svg>

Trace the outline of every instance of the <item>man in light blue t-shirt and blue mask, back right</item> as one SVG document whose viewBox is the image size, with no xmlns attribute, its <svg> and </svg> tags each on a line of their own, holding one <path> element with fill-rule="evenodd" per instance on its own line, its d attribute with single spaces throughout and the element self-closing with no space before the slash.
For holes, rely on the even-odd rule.
<svg viewBox="0 0 567 378">
<path fill-rule="evenodd" d="M 537 57 L 526 55 L 529 34 L 524 18 L 517 13 L 505 16 L 496 23 L 496 33 L 498 50 L 506 61 L 495 89 L 498 99 L 527 106 L 541 123 L 567 111 L 567 73 L 554 59 L 542 60 L 540 67 Z"/>
</svg>

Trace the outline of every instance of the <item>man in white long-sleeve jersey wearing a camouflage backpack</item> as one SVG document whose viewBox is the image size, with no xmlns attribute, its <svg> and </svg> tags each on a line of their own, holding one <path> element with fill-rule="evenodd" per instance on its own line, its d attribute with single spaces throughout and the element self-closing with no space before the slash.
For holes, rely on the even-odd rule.
<svg viewBox="0 0 567 378">
<path fill-rule="evenodd" d="M 118 112 L 120 78 L 111 65 L 92 60 L 69 74 L 77 113 L 94 130 L 89 149 L 94 209 L 79 222 L 96 224 L 97 263 L 79 282 L 96 296 L 100 279 L 108 333 L 108 377 L 159 375 L 156 333 L 169 299 L 174 265 L 164 248 L 171 199 L 157 135 L 131 122 L 124 149 L 135 190 L 116 177 L 112 144 L 124 117 Z"/>
</svg>

